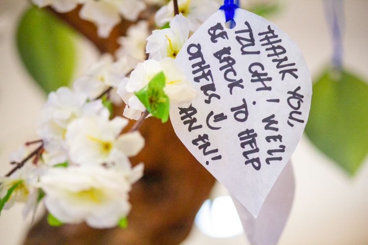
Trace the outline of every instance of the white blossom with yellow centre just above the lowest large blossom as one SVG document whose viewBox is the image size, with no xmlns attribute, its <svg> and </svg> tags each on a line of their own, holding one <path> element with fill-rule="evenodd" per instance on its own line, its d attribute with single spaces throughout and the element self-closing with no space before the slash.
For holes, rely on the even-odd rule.
<svg viewBox="0 0 368 245">
<path fill-rule="evenodd" d="M 135 156 L 144 146 L 138 131 L 120 135 L 128 120 L 115 117 L 89 116 L 68 125 L 65 139 L 69 156 L 81 165 L 129 165 L 128 157 Z"/>
</svg>

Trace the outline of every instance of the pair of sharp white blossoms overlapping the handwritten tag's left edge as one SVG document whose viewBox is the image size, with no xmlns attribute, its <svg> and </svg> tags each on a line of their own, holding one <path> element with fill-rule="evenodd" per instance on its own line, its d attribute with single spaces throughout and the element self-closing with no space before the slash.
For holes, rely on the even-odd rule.
<svg viewBox="0 0 368 245">
<path fill-rule="evenodd" d="M 179 14 L 170 22 L 170 28 L 154 30 L 147 38 L 146 52 L 149 60 L 139 63 L 130 78 L 124 78 L 118 87 L 118 95 L 126 103 L 124 116 L 138 120 L 146 110 L 142 102 L 134 95 L 146 86 L 159 72 L 165 75 L 164 92 L 170 101 L 190 104 L 198 96 L 190 81 L 184 76 L 175 57 L 183 47 L 189 35 L 189 21 Z"/>
</svg>

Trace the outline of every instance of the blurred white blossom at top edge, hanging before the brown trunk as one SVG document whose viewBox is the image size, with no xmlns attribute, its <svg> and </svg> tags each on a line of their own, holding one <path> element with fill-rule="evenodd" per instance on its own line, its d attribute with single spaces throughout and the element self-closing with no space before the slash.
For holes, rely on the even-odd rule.
<svg viewBox="0 0 368 245">
<path fill-rule="evenodd" d="M 107 38 L 112 28 L 121 22 L 120 14 L 129 21 L 136 21 L 145 8 L 141 0 L 86 0 L 79 17 L 95 23 L 98 35 Z"/>
</svg>

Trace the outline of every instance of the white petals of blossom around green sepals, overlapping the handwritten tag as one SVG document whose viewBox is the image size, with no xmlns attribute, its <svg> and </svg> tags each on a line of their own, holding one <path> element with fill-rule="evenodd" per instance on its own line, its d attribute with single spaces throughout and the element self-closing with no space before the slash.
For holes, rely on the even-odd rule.
<svg viewBox="0 0 368 245">
<path fill-rule="evenodd" d="M 159 72 L 163 72 L 165 75 L 163 90 L 170 101 L 191 101 L 198 96 L 198 92 L 194 90 L 193 85 L 184 76 L 180 66 L 175 63 L 173 58 L 164 58 L 161 61 L 146 60 L 139 63 L 131 72 L 130 78 L 124 78 L 118 87 L 118 95 L 127 104 L 124 116 L 134 120 L 139 118 L 140 113 L 146 108 L 133 93 L 146 86 Z"/>
</svg>

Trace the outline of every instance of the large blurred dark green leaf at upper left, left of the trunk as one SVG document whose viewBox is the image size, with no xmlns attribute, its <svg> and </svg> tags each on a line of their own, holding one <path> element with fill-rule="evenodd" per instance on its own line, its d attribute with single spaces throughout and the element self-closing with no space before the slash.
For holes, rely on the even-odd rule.
<svg viewBox="0 0 368 245">
<path fill-rule="evenodd" d="M 75 33 L 47 9 L 31 7 L 17 30 L 17 47 L 28 72 L 49 93 L 67 86 L 76 66 Z"/>
</svg>

